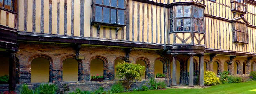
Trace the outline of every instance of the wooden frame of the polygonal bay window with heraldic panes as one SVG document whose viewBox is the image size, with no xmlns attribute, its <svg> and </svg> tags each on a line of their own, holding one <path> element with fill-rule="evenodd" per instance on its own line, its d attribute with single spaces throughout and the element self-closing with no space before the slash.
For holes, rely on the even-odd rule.
<svg viewBox="0 0 256 94">
<path fill-rule="evenodd" d="M 176 17 L 176 7 L 177 6 L 182 6 L 182 15 L 183 17 Z M 170 10 L 169 10 L 169 33 L 173 33 L 173 32 L 196 32 L 196 33 L 205 33 L 205 23 L 204 23 L 204 8 L 202 7 L 199 7 L 199 6 L 196 6 L 196 5 L 177 5 L 177 6 L 172 6 L 170 7 Z M 184 6 L 190 6 L 190 16 L 188 17 L 184 17 Z M 193 13 L 193 10 L 194 10 L 194 7 L 197 8 L 197 17 L 194 17 L 194 13 Z M 202 18 L 199 18 L 199 8 L 202 9 Z M 182 31 L 177 31 L 177 19 L 183 19 L 183 30 Z M 185 27 L 184 27 L 184 19 L 190 19 L 190 30 L 189 31 L 186 31 L 185 30 Z M 199 21 L 202 21 L 202 32 L 200 32 L 200 24 L 197 23 L 197 31 L 195 31 L 195 25 L 194 25 L 194 20 L 197 20 L 197 22 Z M 173 23 L 172 23 L 173 22 Z"/>
</svg>

